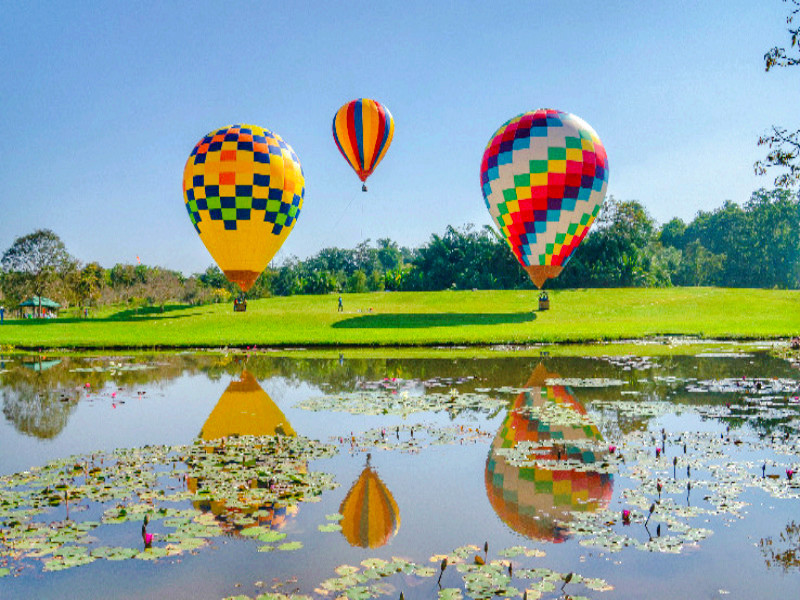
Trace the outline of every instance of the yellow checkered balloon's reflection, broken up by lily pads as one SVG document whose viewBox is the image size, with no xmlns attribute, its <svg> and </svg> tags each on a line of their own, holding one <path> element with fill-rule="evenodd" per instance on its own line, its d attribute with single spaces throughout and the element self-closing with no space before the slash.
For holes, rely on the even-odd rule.
<svg viewBox="0 0 800 600">
<path fill-rule="evenodd" d="M 206 419 L 200 430 L 200 439 L 217 442 L 206 446 L 208 452 L 214 452 L 224 445 L 224 438 L 231 435 L 272 436 L 297 435 L 281 409 L 258 384 L 258 380 L 248 371 L 242 371 L 239 381 L 231 381 L 220 397 L 214 410 Z M 197 492 L 198 478 L 187 477 L 189 491 Z M 242 482 L 243 491 L 263 487 L 259 481 Z M 261 525 L 272 529 L 283 527 L 287 519 L 297 514 L 297 506 L 278 505 L 272 502 L 249 504 L 247 502 L 230 503 L 225 499 L 209 499 L 198 501 L 196 508 L 211 512 L 220 521 L 234 525 L 242 517 L 250 521 L 244 525 Z M 248 519 L 249 517 L 249 519 Z"/>
</svg>

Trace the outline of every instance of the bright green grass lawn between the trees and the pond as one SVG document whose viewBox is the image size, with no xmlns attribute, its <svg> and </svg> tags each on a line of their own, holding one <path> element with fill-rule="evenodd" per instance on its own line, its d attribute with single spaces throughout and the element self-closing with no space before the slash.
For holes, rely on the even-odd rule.
<svg viewBox="0 0 800 600">
<path fill-rule="evenodd" d="M 800 334 L 800 291 L 718 288 L 550 292 L 447 291 L 292 296 L 231 304 L 93 311 L 88 320 L 10 320 L 19 348 L 438 346 L 586 342 L 688 335 L 766 339 Z"/>
</svg>

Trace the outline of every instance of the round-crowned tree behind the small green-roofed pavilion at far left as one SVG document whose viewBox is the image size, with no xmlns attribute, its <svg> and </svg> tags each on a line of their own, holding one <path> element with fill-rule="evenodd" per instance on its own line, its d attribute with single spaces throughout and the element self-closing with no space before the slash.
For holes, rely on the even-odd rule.
<svg viewBox="0 0 800 600">
<path fill-rule="evenodd" d="M 17 238 L 0 260 L 3 269 L 16 273 L 17 294 L 39 297 L 38 314 L 42 314 L 41 298 L 59 279 L 77 267 L 78 261 L 67 252 L 64 242 L 49 229 L 39 229 Z"/>
</svg>

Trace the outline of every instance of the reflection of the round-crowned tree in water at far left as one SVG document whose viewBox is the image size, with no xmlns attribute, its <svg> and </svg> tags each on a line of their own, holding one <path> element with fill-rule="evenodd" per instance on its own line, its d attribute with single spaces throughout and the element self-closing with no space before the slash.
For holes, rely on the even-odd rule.
<svg viewBox="0 0 800 600">
<path fill-rule="evenodd" d="M 0 392 L 6 419 L 20 433 L 40 439 L 52 439 L 61 433 L 77 405 L 74 395 L 70 399 L 57 390 L 27 381 L 4 386 Z"/>
</svg>

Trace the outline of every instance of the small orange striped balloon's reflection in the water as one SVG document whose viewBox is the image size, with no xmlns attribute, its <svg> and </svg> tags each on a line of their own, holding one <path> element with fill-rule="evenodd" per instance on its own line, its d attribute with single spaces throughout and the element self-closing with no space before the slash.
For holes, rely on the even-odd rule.
<svg viewBox="0 0 800 600">
<path fill-rule="evenodd" d="M 351 546 L 378 548 L 400 529 L 400 509 L 386 485 L 369 464 L 339 507 L 342 534 Z"/>
</svg>

